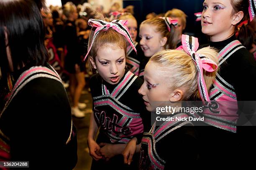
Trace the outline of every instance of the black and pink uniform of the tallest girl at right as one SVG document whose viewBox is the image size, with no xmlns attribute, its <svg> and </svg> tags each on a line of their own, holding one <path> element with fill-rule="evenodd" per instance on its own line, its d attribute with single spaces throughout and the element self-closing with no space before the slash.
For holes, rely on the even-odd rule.
<svg viewBox="0 0 256 170">
<path fill-rule="evenodd" d="M 235 35 L 221 42 L 210 42 L 210 47 L 219 51 L 220 70 L 210 88 L 209 97 L 218 101 L 224 116 L 210 115 L 210 118 L 205 115 L 206 119 L 210 118 L 212 126 L 197 127 L 202 148 L 207 148 L 201 150 L 201 160 L 214 162 L 218 159 L 228 163 L 233 161 L 234 156 L 241 160 L 243 156 L 238 155 L 239 152 L 250 152 L 255 143 L 251 137 L 255 126 L 236 125 L 240 125 L 237 122 L 241 114 L 245 114 L 242 112 L 243 101 L 256 100 L 255 84 L 252 83 L 256 80 L 256 64 Z M 255 113 L 255 107 L 251 109 Z"/>
</svg>

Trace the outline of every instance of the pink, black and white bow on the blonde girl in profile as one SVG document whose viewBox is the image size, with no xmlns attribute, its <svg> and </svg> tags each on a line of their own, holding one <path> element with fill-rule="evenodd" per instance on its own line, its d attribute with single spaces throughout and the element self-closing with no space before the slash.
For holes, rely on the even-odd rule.
<svg viewBox="0 0 256 170">
<path fill-rule="evenodd" d="M 198 70 L 197 81 L 200 97 L 202 98 L 202 101 L 210 101 L 203 76 L 203 69 L 207 72 L 214 72 L 218 68 L 218 65 L 214 61 L 208 59 L 205 55 L 196 53 L 198 46 L 199 43 L 196 37 L 183 34 L 182 45 L 179 46 L 177 50 L 183 49 L 185 52 L 191 55 L 192 59 L 195 61 Z"/>
</svg>

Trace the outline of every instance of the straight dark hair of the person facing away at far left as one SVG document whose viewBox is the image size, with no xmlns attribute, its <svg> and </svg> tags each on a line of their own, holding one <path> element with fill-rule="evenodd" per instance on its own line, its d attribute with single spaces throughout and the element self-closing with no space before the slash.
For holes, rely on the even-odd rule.
<svg viewBox="0 0 256 170">
<path fill-rule="evenodd" d="M 14 72 L 23 65 L 45 65 L 48 52 L 44 45 L 44 23 L 40 9 L 44 1 L 0 1 L 0 67 L 10 72 L 5 39 L 8 40 Z M 5 36 L 7 34 L 7 37 Z"/>
</svg>

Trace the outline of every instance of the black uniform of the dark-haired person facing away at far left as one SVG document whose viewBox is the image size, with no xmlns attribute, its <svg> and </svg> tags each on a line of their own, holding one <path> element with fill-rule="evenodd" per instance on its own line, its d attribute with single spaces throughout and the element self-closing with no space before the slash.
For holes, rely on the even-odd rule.
<svg viewBox="0 0 256 170">
<path fill-rule="evenodd" d="M 15 85 L 0 113 L 0 160 L 29 161 L 25 169 L 73 169 L 76 129 L 59 75 L 46 64 L 25 66 L 14 77 Z"/>
</svg>

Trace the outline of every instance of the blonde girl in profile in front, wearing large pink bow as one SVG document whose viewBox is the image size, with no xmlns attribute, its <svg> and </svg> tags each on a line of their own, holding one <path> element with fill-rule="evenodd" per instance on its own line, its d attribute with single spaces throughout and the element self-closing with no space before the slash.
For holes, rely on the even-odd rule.
<svg viewBox="0 0 256 170">
<path fill-rule="evenodd" d="M 218 53 L 210 47 L 197 51 L 198 41 L 195 37 L 182 35 L 182 42 L 183 50 L 157 52 L 145 67 L 144 83 L 138 92 L 143 95 L 148 111 L 155 110 L 156 101 L 182 106 L 179 101 L 189 100 L 194 95 L 209 101 L 207 90 L 215 78 Z M 174 120 L 165 121 L 159 126 L 155 122 L 150 132 L 143 134 L 140 170 L 171 169 L 174 163 L 198 159 L 199 142 L 191 126 L 193 123 L 175 119 L 188 117 L 189 113 L 178 111 L 170 116 Z M 134 150 L 135 144 L 131 141 L 123 153 L 125 163 L 130 163 L 128 156 Z"/>
</svg>

